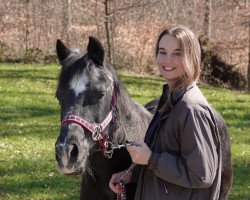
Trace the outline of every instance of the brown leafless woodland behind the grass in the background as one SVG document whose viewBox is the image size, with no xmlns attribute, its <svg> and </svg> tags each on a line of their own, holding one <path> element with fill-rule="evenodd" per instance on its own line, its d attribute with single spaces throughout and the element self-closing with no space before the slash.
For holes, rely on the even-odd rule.
<svg viewBox="0 0 250 200">
<path fill-rule="evenodd" d="M 55 62 L 57 39 L 84 52 L 91 35 L 117 69 L 156 74 L 156 38 L 176 24 L 200 38 L 205 81 L 247 89 L 248 0 L 1 0 L 0 61 Z"/>
</svg>

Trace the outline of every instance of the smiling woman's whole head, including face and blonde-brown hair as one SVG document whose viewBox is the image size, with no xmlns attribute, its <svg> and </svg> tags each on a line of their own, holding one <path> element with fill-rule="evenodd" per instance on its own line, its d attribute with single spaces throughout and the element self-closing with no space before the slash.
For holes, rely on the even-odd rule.
<svg viewBox="0 0 250 200">
<path fill-rule="evenodd" d="M 198 38 L 187 27 L 178 25 L 163 30 L 156 43 L 156 63 L 170 90 L 196 82 L 201 72 Z"/>
</svg>

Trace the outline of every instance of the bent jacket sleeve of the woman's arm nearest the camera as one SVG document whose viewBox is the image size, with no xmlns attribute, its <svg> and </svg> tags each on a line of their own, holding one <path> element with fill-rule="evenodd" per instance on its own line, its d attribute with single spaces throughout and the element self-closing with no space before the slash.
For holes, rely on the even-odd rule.
<svg viewBox="0 0 250 200">
<path fill-rule="evenodd" d="M 182 123 L 182 124 L 181 124 Z M 213 134 L 216 127 L 209 113 L 189 110 L 180 122 L 181 155 L 154 153 L 148 169 L 159 178 L 188 188 L 208 188 L 218 167 Z"/>
</svg>

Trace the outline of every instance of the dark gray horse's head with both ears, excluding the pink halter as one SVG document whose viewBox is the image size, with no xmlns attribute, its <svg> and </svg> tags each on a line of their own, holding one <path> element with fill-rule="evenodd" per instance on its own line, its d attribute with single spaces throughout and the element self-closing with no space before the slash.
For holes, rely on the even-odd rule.
<svg viewBox="0 0 250 200">
<path fill-rule="evenodd" d="M 61 106 L 61 120 L 75 116 L 98 126 L 111 111 L 116 81 L 109 67 L 104 63 L 104 49 L 101 43 L 89 38 L 87 53 L 79 54 L 57 41 L 57 55 L 62 65 L 56 97 Z M 112 116 L 113 117 L 113 116 Z M 114 124 L 109 121 L 105 132 L 112 132 Z M 112 135 L 109 139 L 112 140 Z M 88 157 L 98 147 L 92 133 L 81 123 L 72 120 L 63 123 L 56 142 L 56 160 L 64 174 L 86 170 Z"/>
</svg>

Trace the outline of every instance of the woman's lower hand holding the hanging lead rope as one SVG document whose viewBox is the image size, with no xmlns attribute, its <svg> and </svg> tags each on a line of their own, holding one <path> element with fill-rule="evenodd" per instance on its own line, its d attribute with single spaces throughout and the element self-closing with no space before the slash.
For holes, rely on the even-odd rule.
<svg viewBox="0 0 250 200">
<path fill-rule="evenodd" d="M 116 174 L 113 174 L 110 181 L 109 181 L 109 187 L 110 189 L 115 192 L 115 193 L 120 193 L 121 192 L 121 188 L 119 188 L 119 185 L 117 184 L 120 177 L 126 172 L 127 170 L 125 171 L 122 171 L 122 172 L 118 172 Z M 127 184 L 131 181 L 131 178 L 132 178 L 132 172 L 130 171 L 123 179 L 123 183 L 124 184 Z"/>
</svg>

